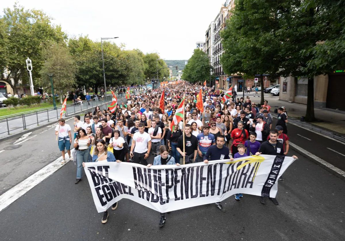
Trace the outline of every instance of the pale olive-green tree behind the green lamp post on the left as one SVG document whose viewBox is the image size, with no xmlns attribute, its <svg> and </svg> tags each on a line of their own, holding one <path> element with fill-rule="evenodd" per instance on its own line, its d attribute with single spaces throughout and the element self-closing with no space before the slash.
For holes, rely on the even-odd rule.
<svg viewBox="0 0 345 241">
<path fill-rule="evenodd" d="M 72 87 L 75 87 L 76 66 L 67 46 L 62 43 L 53 43 L 43 51 L 46 61 L 40 71 L 41 78 L 38 84 L 50 93 L 50 79 L 47 74 L 54 74 L 53 86 L 59 93 L 62 104 L 62 95 L 67 94 Z"/>
</svg>

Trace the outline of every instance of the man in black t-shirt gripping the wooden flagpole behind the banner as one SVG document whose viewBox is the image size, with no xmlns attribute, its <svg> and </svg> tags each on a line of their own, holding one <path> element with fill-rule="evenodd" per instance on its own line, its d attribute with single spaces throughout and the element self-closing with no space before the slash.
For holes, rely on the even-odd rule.
<svg viewBox="0 0 345 241">
<path fill-rule="evenodd" d="M 185 156 L 185 164 L 194 163 L 194 158 L 198 153 L 198 139 L 192 135 L 191 126 L 185 125 L 185 143 L 183 143 L 183 136 L 177 140 L 176 150 L 180 153 L 180 164 L 183 164 L 183 157 Z M 185 152 L 183 152 L 183 145 L 185 145 Z"/>
</svg>

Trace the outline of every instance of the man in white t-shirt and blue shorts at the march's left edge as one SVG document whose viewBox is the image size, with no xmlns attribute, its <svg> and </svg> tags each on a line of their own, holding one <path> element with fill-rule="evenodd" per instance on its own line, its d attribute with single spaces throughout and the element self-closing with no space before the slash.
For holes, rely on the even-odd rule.
<svg viewBox="0 0 345 241">
<path fill-rule="evenodd" d="M 67 149 L 69 159 L 73 160 L 69 150 L 72 143 L 71 127 L 65 124 L 65 119 L 59 119 L 59 125 L 55 127 L 55 135 L 58 135 L 58 145 L 62 155 L 61 164 L 65 164 L 65 148 Z"/>
</svg>

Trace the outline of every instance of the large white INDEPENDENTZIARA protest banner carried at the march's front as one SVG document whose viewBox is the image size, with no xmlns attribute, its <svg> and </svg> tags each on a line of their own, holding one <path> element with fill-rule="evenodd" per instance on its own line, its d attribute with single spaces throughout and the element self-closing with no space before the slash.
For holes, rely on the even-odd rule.
<svg viewBox="0 0 345 241">
<path fill-rule="evenodd" d="M 250 156 L 209 164 L 85 163 L 98 212 L 128 198 L 159 212 L 223 201 L 235 193 L 276 197 L 278 178 L 294 158 Z"/>
</svg>

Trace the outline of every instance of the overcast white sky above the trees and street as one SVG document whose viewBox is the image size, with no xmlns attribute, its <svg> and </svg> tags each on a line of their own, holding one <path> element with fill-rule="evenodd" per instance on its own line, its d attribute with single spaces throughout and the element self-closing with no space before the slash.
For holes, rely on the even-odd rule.
<svg viewBox="0 0 345 241">
<path fill-rule="evenodd" d="M 15 0 L 0 1 L 12 8 Z M 157 52 L 162 59 L 186 60 L 225 0 L 19 0 L 25 9 L 41 9 L 69 37 L 89 35 L 124 43 L 126 49 Z"/>
</svg>

